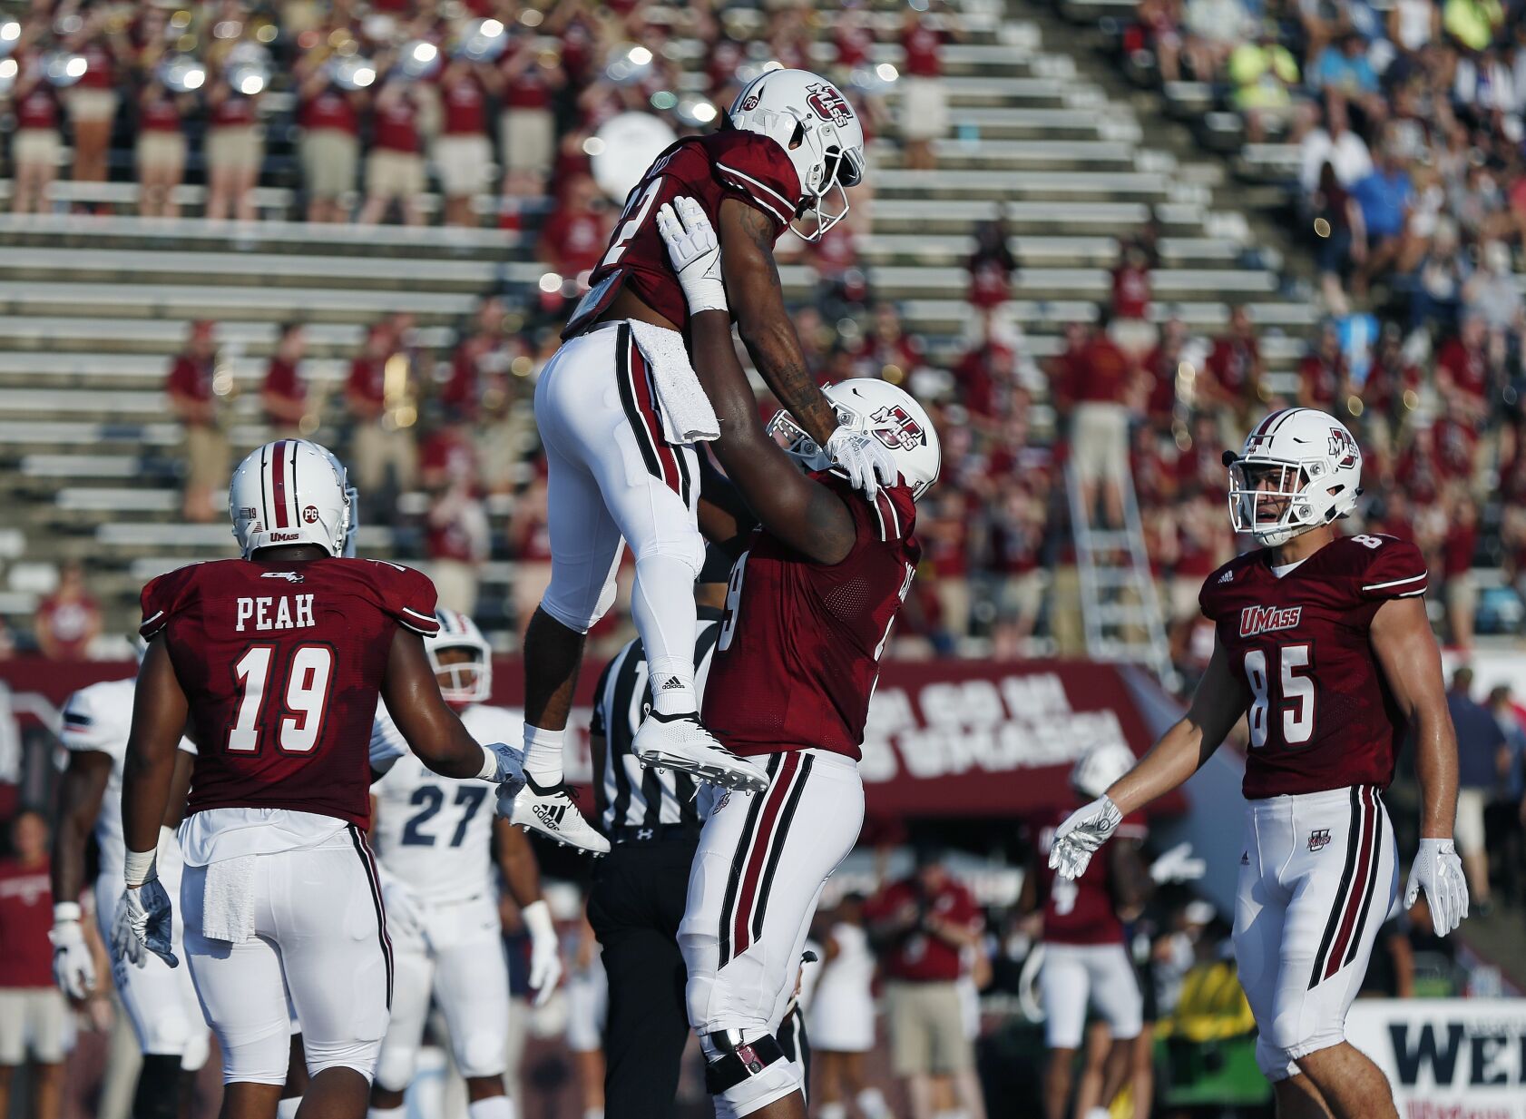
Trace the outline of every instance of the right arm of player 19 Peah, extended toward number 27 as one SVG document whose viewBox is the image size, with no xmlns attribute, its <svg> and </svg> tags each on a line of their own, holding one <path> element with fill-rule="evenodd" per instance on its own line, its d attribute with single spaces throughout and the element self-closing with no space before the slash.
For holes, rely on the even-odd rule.
<svg viewBox="0 0 1526 1119">
<path fill-rule="evenodd" d="M 382 699 L 409 748 L 441 777 L 501 782 L 513 776 L 517 780 L 517 759 L 510 765 L 504 757 L 510 753 L 508 747 L 478 745 L 439 695 L 439 682 L 418 634 L 398 629 L 392 635 L 382 678 Z M 513 772 L 504 772 L 505 769 Z"/>
</svg>

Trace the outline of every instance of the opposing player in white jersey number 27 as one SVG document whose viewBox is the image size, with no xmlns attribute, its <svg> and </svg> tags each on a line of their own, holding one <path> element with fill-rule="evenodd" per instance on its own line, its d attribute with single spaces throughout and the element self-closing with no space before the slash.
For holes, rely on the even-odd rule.
<svg viewBox="0 0 1526 1119">
<path fill-rule="evenodd" d="M 439 693 L 479 742 L 519 733 L 519 716 L 491 707 L 491 647 L 464 614 L 436 611 L 424 638 Z M 508 1053 L 508 965 L 497 919 L 497 840 L 510 895 L 530 930 L 536 1003 L 555 989 L 562 957 L 551 910 L 540 896 L 536 856 L 523 832 L 494 817 L 493 791 L 443 780 L 414 756 L 386 707 L 371 731 L 375 803 L 371 846 L 382 867 L 395 989 L 392 1021 L 371 1087 L 369 1119 L 401 1119 L 430 997 L 446 1015 L 456 1069 L 467 1082 L 470 1119 L 513 1119 L 504 1095 Z"/>
</svg>

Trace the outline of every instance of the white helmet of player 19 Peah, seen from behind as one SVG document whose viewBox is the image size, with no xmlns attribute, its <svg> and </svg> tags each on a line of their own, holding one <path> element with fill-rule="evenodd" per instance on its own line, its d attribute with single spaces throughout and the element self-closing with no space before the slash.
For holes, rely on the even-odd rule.
<svg viewBox="0 0 1526 1119">
<path fill-rule="evenodd" d="M 307 440 L 267 443 L 233 472 L 227 514 L 244 559 L 288 543 L 316 543 L 342 556 L 349 534 L 343 467 L 327 447 Z"/>
</svg>

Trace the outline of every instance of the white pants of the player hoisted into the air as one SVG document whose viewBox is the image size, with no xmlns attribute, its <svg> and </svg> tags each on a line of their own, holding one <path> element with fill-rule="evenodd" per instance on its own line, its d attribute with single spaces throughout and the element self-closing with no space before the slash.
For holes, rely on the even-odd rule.
<svg viewBox="0 0 1526 1119">
<path fill-rule="evenodd" d="M 664 714 L 694 710 L 699 458 L 664 438 L 647 362 L 626 324 L 563 343 L 536 383 L 546 449 L 551 585 L 540 608 L 586 634 L 615 600 L 624 537 L 636 562 L 630 611 L 655 681 L 679 678 Z M 687 667 L 685 667 L 687 666 Z"/>
</svg>

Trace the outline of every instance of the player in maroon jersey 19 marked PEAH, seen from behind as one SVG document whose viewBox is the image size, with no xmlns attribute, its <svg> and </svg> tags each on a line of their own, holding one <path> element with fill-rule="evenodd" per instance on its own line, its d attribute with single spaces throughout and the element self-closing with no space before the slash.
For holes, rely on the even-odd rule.
<svg viewBox="0 0 1526 1119">
<path fill-rule="evenodd" d="M 444 702 L 423 637 L 435 588 L 409 568 L 343 559 L 349 498 L 327 450 L 279 440 L 233 475 L 243 559 L 197 563 L 143 588 L 148 652 L 122 772 L 124 950 L 169 945 L 154 852 L 182 730 L 198 743 L 180 905 L 185 954 L 223 1052 L 223 1119 L 275 1119 L 290 1017 L 311 1075 L 305 1119 L 362 1119 L 392 1001 L 375 863 L 368 747 L 385 698 L 414 753 L 444 777 L 499 785 L 516 750 L 479 745 Z"/>
</svg>

